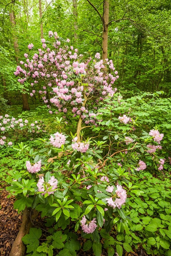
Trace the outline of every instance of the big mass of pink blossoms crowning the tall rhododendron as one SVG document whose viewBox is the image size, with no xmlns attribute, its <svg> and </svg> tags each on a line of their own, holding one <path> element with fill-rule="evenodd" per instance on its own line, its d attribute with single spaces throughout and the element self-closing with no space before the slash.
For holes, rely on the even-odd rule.
<svg viewBox="0 0 171 256">
<path fill-rule="evenodd" d="M 32 59 L 28 58 L 28 54 L 24 54 L 26 63 L 20 62 L 23 68 L 17 66 L 15 75 L 23 75 L 19 78 L 20 83 L 32 79 L 31 86 L 34 87 L 39 80 L 44 79 L 46 86 L 39 90 L 44 103 L 48 102 L 46 97 L 49 91 L 48 98 L 58 108 L 58 111 L 67 112 L 67 106 L 71 105 L 74 116 L 81 115 L 86 124 L 96 124 L 96 115 L 89 116 L 87 108 L 83 106 L 84 100 L 87 97 L 101 96 L 113 97 L 116 88 L 113 88 L 113 83 L 118 79 L 117 71 L 114 71 L 112 60 L 100 60 L 100 54 L 96 54 L 96 60 L 89 58 L 87 61 L 82 61 L 82 56 L 77 54 L 77 49 L 73 46 L 69 48 L 65 45 L 60 47 L 58 35 L 56 32 L 49 31 L 49 37 L 55 38 L 53 49 L 47 48 L 45 39 L 41 39 L 42 48 L 39 53 L 35 53 Z M 70 40 L 67 39 L 67 42 Z M 33 44 L 28 45 L 29 49 L 33 48 Z M 106 66 L 109 66 L 113 74 L 106 73 Z M 77 79 L 82 76 L 82 84 L 77 83 Z M 74 77 L 74 78 L 73 78 Z M 53 88 L 53 92 L 52 92 Z M 35 93 L 35 88 L 30 92 L 32 97 Z M 100 95 L 101 94 L 101 95 Z M 101 100 L 100 100 L 101 101 Z M 93 101 L 94 109 L 97 110 L 99 100 Z M 52 114 L 52 111 L 49 113 Z"/>
</svg>

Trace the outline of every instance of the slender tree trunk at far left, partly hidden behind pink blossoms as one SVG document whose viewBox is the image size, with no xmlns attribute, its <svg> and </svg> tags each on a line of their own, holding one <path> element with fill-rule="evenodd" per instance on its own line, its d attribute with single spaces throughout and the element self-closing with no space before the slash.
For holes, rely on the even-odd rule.
<svg viewBox="0 0 171 256">
<path fill-rule="evenodd" d="M 13 4 L 14 4 L 14 2 L 13 2 Z M 18 39 L 17 39 L 16 33 L 14 31 L 16 22 L 15 22 L 14 11 L 13 11 L 12 8 L 11 8 L 11 12 L 10 12 L 10 20 L 11 20 L 11 26 L 13 28 L 13 42 L 14 42 L 15 59 L 16 59 L 17 65 L 19 65 L 19 61 L 18 61 L 18 58 L 19 58 Z M 23 110 L 24 111 L 30 110 L 28 100 L 27 100 L 27 95 L 25 94 L 25 89 L 23 89 L 22 100 L 23 100 Z"/>
</svg>

